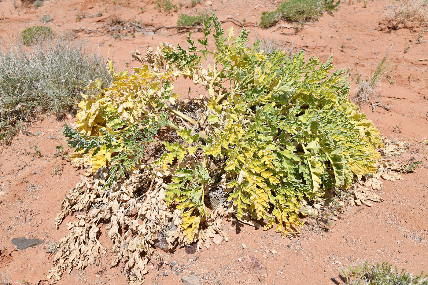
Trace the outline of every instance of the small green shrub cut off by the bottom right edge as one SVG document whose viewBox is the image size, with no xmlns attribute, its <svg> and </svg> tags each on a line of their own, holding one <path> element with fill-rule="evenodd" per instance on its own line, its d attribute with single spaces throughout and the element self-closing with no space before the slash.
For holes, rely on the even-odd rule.
<svg viewBox="0 0 428 285">
<path fill-rule="evenodd" d="M 428 285 L 428 275 L 423 271 L 413 276 L 388 262 L 375 265 L 366 262 L 355 269 L 349 265 L 348 270 L 341 268 L 341 271 L 345 285 Z"/>
</svg>

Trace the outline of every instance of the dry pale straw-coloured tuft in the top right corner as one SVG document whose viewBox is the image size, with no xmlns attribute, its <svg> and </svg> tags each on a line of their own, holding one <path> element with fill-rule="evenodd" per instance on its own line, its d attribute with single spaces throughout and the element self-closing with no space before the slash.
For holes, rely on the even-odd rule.
<svg viewBox="0 0 428 285">
<path fill-rule="evenodd" d="M 427 0 L 402 0 L 386 8 L 386 24 L 389 28 L 414 27 L 415 25 L 428 26 Z"/>
</svg>

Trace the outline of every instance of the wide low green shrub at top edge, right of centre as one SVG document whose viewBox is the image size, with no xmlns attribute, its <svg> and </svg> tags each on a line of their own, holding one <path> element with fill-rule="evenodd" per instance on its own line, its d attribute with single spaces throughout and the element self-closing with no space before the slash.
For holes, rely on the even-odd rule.
<svg viewBox="0 0 428 285">
<path fill-rule="evenodd" d="M 280 20 L 304 22 L 318 20 L 324 12 L 337 11 L 339 1 L 334 0 L 289 0 L 282 2 L 275 11 L 262 12 L 260 26 L 267 28 Z"/>
</svg>

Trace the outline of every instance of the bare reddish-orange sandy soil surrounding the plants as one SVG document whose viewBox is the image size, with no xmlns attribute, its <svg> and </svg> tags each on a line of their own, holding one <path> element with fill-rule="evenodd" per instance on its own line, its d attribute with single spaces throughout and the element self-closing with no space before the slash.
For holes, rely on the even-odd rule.
<svg viewBox="0 0 428 285">
<path fill-rule="evenodd" d="M 145 50 L 147 46 L 155 47 L 165 41 L 185 44 L 186 33 L 166 29 L 151 32 L 160 25 L 174 26 L 181 12 L 212 10 L 223 21 L 232 17 L 257 23 L 262 11 L 273 10 L 279 2 L 223 0 L 210 5 L 210 1 L 203 1 L 193 8 L 186 7 L 190 1 L 183 4 L 177 12 L 166 14 L 158 12 L 155 3 L 146 0 L 45 1 L 39 9 L 5 0 L 0 2 L 0 36 L 16 35 L 26 27 L 40 24 L 39 18 L 49 14 L 53 22 L 47 26 L 56 33 L 74 30 L 76 40 L 87 39 L 90 45 L 99 44 L 104 56 L 111 57 L 114 52 L 113 60 L 122 68 L 126 61 L 131 62 L 129 55 L 135 49 Z M 342 3 L 339 12 L 323 15 L 320 21 L 305 25 L 294 36 L 282 34 L 281 29 L 273 31 L 279 24 L 289 23 L 279 23 L 266 30 L 249 27 L 250 36 L 255 39 L 257 29 L 262 36 L 278 36 L 280 41 L 293 42 L 295 51 L 304 48 L 308 57 L 316 55 L 325 60 L 333 54 L 336 68 L 347 68 L 351 73 L 351 96 L 356 91 L 357 72 L 363 74 L 363 78 L 370 77 L 393 45 L 390 58 L 395 58 L 396 67 L 390 73 L 391 82 L 385 79 L 375 88 L 379 100 L 390 110 L 369 104 L 362 109 L 387 138 L 411 145 L 406 159 L 418 160 L 425 153 L 426 145 L 422 143 L 428 137 L 428 45 L 423 37 L 422 42 L 417 43 L 423 32 L 419 28 L 379 29 L 386 5 L 388 3 L 381 0 L 369 2 L 367 8 L 363 8 L 363 3 Z M 103 15 L 88 17 L 98 12 Z M 77 21 L 77 14 L 86 18 Z M 125 30 L 115 39 L 106 33 L 107 23 L 113 16 L 138 21 L 144 33 L 135 32 L 132 37 Z M 226 22 L 223 27 L 230 25 L 232 22 Z M 240 27 L 235 26 L 235 30 L 238 29 Z M 193 35 L 197 37 L 201 33 Z M 404 52 L 406 47 L 410 49 Z M 65 122 L 71 121 L 70 117 Z M 25 280 L 37 284 L 46 280 L 47 271 L 52 267 L 52 255 L 46 251 L 67 234 L 65 223 L 59 230 L 55 229 L 54 218 L 66 190 L 74 187 L 84 170 L 74 169 L 61 156 L 55 156 L 56 146 L 63 145 L 65 151 L 69 151 L 61 134 L 65 122 L 48 116 L 19 134 L 11 145 L 0 146 L 0 282 L 23 284 L 21 280 Z M 251 254 L 267 267 L 266 284 L 334 284 L 331 277 L 339 280 L 340 267 L 363 261 L 388 261 L 416 274 L 420 270 L 428 271 L 427 167 L 427 163 L 420 164 L 415 173 L 403 174 L 403 181 L 384 181 L 383 190 L 377 193 L 384 202 L 370 208 L 349 207 L 322 235 L 303 229 L 299 239 L 282 239 L 273 229 L 264 232 L 246 224 L 227 222 L 228 242 L 212 244 L 209 249 L 202 248 L 196 253 L 186 253 L 184 248 L 173 253 L 158 251 L 157 258 L 152 258 L 154 269 L 146 275 L 146 283 L 179 284 L 181 276 L 195 273 L 202 284 L 256 284 L 260 282 L 258 277 L 241 267 L 240 260 Z M 72 219 L 68 217 L 66 221 Z M 17 250 L 11 239 L 22 236 L 40 238 L 45 243 Z M 85 270 L 64 273 L 58 284 L 126 284 L 121 265 L 110 268 L 110 262 L 111 256 L 107 254 Z M 171 262 L 178 265 L 171 268 L 168 265 Z"/>
</svg>

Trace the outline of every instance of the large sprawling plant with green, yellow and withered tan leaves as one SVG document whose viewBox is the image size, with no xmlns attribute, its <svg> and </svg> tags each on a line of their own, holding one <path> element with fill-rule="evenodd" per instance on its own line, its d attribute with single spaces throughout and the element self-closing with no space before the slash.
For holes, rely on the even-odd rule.
<svg viewBox="0 0 428 285">
<path fill-rule="evenodd" d="M 79 211 L 50 278 L 93 264 L 105 252 L 105 223 L 111 265 L 123 262 L 129 281 L 140 282 L 155 245 L 199 249 L 216 233 L 227 240 L 222 219 L 231 215 L 294 234 L 304 200 L 376 171 L 379 132 L 348 100 L 348 77 L 331 58 L 264 55 L 259 43 L 246 45 L 248 30 L 225 34 L 214 14 L 204 27 L 197 42 L 189 34 L 187 49 L 136 51 L 141 65 L 132 74 L 110 62 L 111 85 L 86 87 L 98 94 L 83 95 L 63 133 L 75 148 L 71 160 L 89 172 L 56 218 L 59 226 Z M 174 89 L 181 78 L 206 94 L 183 101 Z"/>
</svg>

